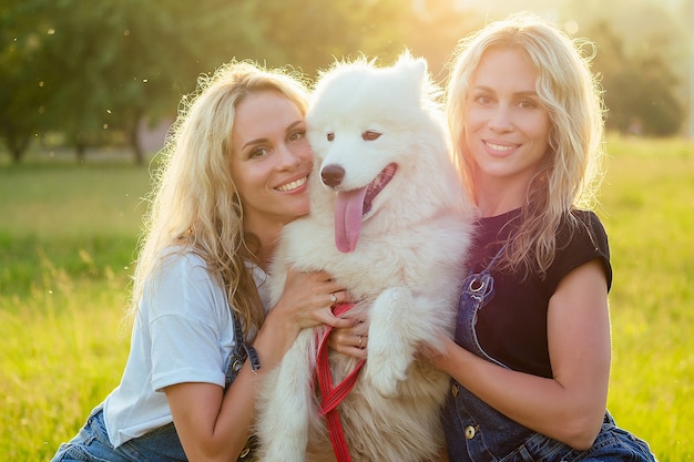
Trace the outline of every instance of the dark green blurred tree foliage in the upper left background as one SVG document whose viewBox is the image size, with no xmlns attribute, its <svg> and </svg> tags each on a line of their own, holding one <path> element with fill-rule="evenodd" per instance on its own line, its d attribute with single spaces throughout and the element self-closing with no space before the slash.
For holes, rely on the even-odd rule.
<svg viewBox="0 0 694 462">
<path fill-rule="evenodd" d="M 197 75 L 226 61 L 234 48 L 252 53 L 261 45 L 246 40 L 244 1 L 9 1 L 1 19 L 14 27 L 2 28 L 0 62 L 12 65 L 0 71 L 8 83 L 2 97 L 24 107 L 21 121 L 28 127 L 35 126 L 29 115 L 37 111 L 33 100 L 41 97 L 40 132 L 64 133 L 80 160 L 90 145 L 119 142 L 142 164 L 142 121 L 175 116 Z M 27 53 L 30 44 L 32 53 Z M 13 140 L 28 130 L 14 129 L 14 137 L 3 137 L 20 145 Z"/>
</svg>

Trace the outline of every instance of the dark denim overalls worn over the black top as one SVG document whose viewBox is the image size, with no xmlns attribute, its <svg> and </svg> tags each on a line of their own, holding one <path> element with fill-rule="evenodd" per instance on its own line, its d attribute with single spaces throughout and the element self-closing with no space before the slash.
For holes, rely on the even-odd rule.
<svg viewBox="0 0 694 462">
<path fill-rule="evenodd" d="M 502 367 L 507 366 L 484 352 L 474 326 L 478 311 L 494 295 L 491 268 L 504 247 L 481 273 L 470 271 L 465 279 L 456 324 L 458 345 Z M 649 445 L 618 428 L 609 413 L 593 446 L 576 451 L 507 418 L 456 380 L 443 408 L 443 429 L 450 462 L 655 461 Z"/>
</svg>

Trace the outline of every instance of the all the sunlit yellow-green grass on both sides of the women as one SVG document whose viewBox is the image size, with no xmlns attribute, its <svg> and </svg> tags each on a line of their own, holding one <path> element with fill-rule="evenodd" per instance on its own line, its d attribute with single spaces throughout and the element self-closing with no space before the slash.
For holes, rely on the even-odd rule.
<svg viewBox="0 0 694 462">
<path fill-rule="evenodd" d="M 611 138 L 609 151 L 609 408 L 661 462 L 694 461 L 694 144 Z M 150 188 L 129 163 L 0 162 L 3 460 L 48 460 L 119 382 Z"/>
</svg>

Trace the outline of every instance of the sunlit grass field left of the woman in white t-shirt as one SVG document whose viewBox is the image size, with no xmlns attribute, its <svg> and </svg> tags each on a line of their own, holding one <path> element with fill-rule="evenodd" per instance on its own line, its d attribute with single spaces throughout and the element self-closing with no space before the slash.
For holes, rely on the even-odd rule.
<svg viewBox="0 0 694 462">
<path fill-rule="evenodd" d="M 48 460 L 118 384 L 150 188 L 129 161 L 0 165 L 0 459 Z"/>
</svg>

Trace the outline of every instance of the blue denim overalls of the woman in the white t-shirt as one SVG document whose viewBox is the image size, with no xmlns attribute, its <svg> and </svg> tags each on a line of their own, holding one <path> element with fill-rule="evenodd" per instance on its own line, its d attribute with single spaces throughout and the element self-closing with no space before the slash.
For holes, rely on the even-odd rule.
<svg viewBox="0 0 694 462">
<path fill-rule="evenodd" d="M 224 391 L 228 390 L 246 358 L 251 358 L 254 369 L 259 368 L 257 353 L 246 346 L 241 322 L 234 318 L 234 338 L 236 345 L 228 358 Z M 238 455 L 238 461 L 249 462 L 257 445 L 257 439 L 252 435 Z M 132 439 L 113 448 L 109 441 L 106 425 L 103 420 L 103 403 L 90 413 L 86 423 L 69 443 L 60 445 L 52 462 L 69 461 L 110 461 L 110 462 L 186 462 L 187 458 L 181 445 L 173 422 L 151 431 L 142 437 Z"/>
</svg>

